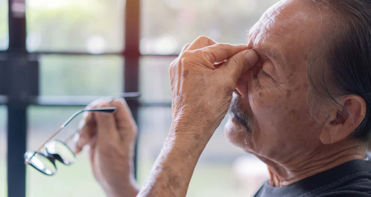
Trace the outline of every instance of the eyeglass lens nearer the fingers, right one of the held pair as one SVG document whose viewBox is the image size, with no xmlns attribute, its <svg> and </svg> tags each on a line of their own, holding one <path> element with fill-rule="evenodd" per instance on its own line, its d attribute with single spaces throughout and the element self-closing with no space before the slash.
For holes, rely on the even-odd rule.
<svg viewBox="0 0 371 197">
<path fill-rule="evenodd" d="M 46 152 L 52 154 L 56 160 L 66 165 L 76 161 L 75 153 L 62 141 L 53 140 L 45 144 Z"/>
</svg>

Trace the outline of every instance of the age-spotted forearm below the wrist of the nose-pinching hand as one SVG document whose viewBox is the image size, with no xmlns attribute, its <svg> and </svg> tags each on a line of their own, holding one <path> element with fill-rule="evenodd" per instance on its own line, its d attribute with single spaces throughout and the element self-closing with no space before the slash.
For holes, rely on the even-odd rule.
<svg viewBox="0 0 371 197">
<path fill-rule="evenodd" d="M 209 139 L 200 137 L 198 132 L 171 130 L 138 196 L 185 196 Z"/>
</svg>

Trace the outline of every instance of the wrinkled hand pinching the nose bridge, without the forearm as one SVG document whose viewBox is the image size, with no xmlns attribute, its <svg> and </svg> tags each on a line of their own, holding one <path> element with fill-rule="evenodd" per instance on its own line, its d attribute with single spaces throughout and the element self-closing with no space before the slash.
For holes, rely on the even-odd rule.
<svg viewBox="0 0 371 197">
<path fill-rule="evenodd" d="M 216 43 L 205 36 L 185 45 L 169 68 L 173 132 L 196 126 L 211 137 L 227 113 L 237 79 L 258 59 L 246 45 Z"/>
</svg>

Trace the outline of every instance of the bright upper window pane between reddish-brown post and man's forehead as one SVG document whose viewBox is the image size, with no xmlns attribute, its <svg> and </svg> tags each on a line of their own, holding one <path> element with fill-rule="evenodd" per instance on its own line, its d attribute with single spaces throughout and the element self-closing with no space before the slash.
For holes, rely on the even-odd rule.
<svg viewBox="0 0 371 197">
<path fill-rule="evenodd" d="M 177 53 L 200 35 L 245 44 L 247 30 L 278 1 L 142 0 L 141 53 Z"/>
</svg>

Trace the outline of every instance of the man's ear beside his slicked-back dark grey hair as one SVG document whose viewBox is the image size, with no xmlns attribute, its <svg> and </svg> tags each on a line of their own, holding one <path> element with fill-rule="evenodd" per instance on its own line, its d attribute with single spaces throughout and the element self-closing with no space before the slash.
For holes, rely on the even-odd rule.
<svg viewBox="0 0 371 197">
<path fill-rule="evenodd" d="M 344 107 L 331 109 L 322 128 L 319 139 L 323 144 L 332 144 L 346 138 L 365 117 L 366 102 L 361 96 L 347 95 L 339 102 Z"/>
</svg>

